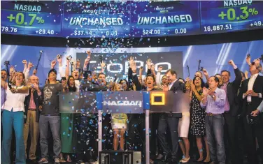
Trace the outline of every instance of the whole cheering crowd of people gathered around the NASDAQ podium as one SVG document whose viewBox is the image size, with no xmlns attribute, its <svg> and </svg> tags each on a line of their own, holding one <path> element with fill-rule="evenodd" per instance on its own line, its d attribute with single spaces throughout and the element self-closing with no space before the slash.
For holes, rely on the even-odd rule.
<svg viewBox="0 0 263 164">
<path fill-rule="evenodd" d="M 83 68 L 80 68 L 80 61 L 76 61 L 70 70 L 71 57 L 66 57 L 64 72 L 62 56 L 57 55 L 57 60 L 51 62 L 42 89 L 37 70 L 29 75 L 34 66 L 30 62 L 22 61 L 22 72 L 11 66 L 9 77 L 7 70 L 1 70 L 1 163 L 11 163 L 14 136 L 15 163 L 26 163 L 27 158 L 33 163 L 48 163 L 49 131 L 55 163 L 71 162 L 72 157 L 78 163 L 96 163 L 97 114 L 60 113 L 59 92 L 174 89 L 188 93 L 190 105 L 183 110 L 181 118 L 172 112 L 150 113 L 151 164 L 154 161 L 188 163 L 190 158 L 203 163 L 241 164 L 244 156 L 248 156 L 248 163 L 257 164 L 258 155 L 263 160 L 263 77 L 259 75 L 263 70 L 260 59 L 251 63 L 247 57 L 250 77 L 248 72 L 241 72 L 234 61 L 229 61 L 235 74 L 234 81 L 230 82 L 229 70 L 211 76 L 206 69 L 198 70 L 193 80 L 189 77 L 183 80 L 172 69 L 161 75 L 162 66 L 155 73 L 150 59 L 146 61 L 148 70 L 143 78 L 143 68 L 137 70 L 134 58 L 130 57 L 128 79 L 115 77 L 114 82 L 106 82 L 106 63 L 101 62 L 101 71 L 97 75 L 90 70 L 91 58 L 91 52 L 87 51 Z M 61 80 L 57 80 L 57 63 Z M 141 151 L 142 159 L 145 158 L 145 114 L 104 113 L 103 116 L 104 149 Z M 27 150 L 29 134 L 31 142 Z M 37 161 L 38 144 L 41 157 Z M 179 147 L 181 151 L 178 151 Z"/>
</svg>

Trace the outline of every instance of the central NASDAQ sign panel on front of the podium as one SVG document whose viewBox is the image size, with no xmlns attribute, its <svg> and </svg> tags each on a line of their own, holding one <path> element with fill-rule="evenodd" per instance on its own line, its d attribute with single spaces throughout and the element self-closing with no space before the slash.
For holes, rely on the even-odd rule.
<svg viewBox="0 0 263 164">
<path fill-rule="evenodd" d="M 104 91 L 104 112 L 110 113 L 143 113 L 142 91 Z"/>
</svg>

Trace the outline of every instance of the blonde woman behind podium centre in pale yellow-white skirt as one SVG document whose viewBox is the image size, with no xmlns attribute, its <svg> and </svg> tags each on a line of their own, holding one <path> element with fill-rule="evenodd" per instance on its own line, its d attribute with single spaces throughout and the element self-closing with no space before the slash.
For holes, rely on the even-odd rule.
<svg viewBox="0 0 263 164">
<path fill-rule="evenodd" d="M 115 84 L 115 91 L 121 91 L 122 85 Z M 120 136 L 120 150 L 125 149 L 125 131 L 127 129 L 127 114 L 114 113 L 111 114 L 111 127 L 114 131 L 113 148 L 118 150 L 119 136 Z"/>
</svg>

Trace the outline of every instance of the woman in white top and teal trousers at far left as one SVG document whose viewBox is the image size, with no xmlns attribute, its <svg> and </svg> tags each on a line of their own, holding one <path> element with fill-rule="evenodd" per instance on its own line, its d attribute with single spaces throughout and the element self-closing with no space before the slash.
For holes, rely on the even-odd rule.
<svg viewBox="0 0 263 164">
<path fill-rule="evenodd" d="M 24 99 L 28 95 L 29 88 L 25 86 L 24 73 L 15 74 L 12 88 L 1 79 L 1 87 L 6 89 L 6 102 L 3 103 L 3 141 L 1 147 L 1 163 L 10 163 L 10 144 L 12 131 L 15 130 L 15 163 L 25 164 L 26 154 L 24 151 Z"/>
</svg>

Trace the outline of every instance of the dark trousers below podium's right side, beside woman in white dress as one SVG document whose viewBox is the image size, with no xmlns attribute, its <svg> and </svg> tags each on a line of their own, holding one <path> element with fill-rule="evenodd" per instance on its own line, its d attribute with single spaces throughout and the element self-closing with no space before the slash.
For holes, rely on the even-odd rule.
<svg viewBox="0 0 263 164">
<path fill-rule="evenodd" d="M 172 158 L 176 158 L 178 151 L 178 123 L 179 118 L 174 117 L 173 114 L 160 114 L 159 124 L 157 129 L 157 136 L 164 151 L 164 155 L 171 154 Z M 169 128 L 171 133 L 171 149 L 166 141 L 166 130 Z"/>
</svg>

